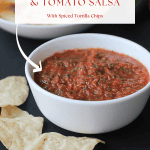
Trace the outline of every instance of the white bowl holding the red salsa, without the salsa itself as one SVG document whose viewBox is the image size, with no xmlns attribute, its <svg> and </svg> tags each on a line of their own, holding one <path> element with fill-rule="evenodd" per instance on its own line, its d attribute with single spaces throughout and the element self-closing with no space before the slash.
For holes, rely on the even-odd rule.
<svg viewBox="0 0 150 150">
<path fill-rule="evenodd" d="M 150 53 L 142 46 L 124 38 L 104 34 L 76 34 L 51 40 L 35 49 L 29 58 L 35 63 L 57 50 L 72 48 L 106 48 L 128 54 L 141 61 L 150 72 Z M 54 95 L 32 79 L 33 67 L 26 62 L 25 73 L 33 96 L 44 116 L 54 124 L 79 133 L 104 133 L 122 128 L 143 110 L 150 83 L 126 97 L 106 101 L 81 101 Z"/>
</svg>

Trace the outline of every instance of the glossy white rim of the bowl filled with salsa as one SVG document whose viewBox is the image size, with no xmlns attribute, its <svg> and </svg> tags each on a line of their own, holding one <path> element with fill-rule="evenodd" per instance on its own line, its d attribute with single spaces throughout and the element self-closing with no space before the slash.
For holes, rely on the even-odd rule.
<svg viewBox="0 0 150 150">
<path fill-rule="evenodd" d="M 30 55 L 29 55 L 29 58 L 31 58 L 32 56 L 34 56 L 34 54 L 40 50 L 43 46 L 47 45 L 47 44 L 51 44 L 51 42 L 56 42 L 57 40 L 63 40 L 65 38 L 70 38 L 70 37 L 74 37 L 74 36 L 107 36 L 107 37 L 113 37 L 113 38 L 116 38 L 116 39 L 120 39 L 120 40 L 123 40 L 123 41 L 127 41 L 127 42 L 130 42 L 131 44 L 134 44 L 134 45 L 137 45 L 139 46 L 140 48 L 142 48 L 143 50 L 145 50 L 146 52 L 149 53 L 150 55 L 150 52 L 145 49 L 144 47 L 142 47 L 141 45 L 137 44 L 136 42 L 133 42 L 131 40 L 128 40 L 126 38 L 122 38 L 122 37 L 119 37 L 119 36 L 115 36 L 115 35 L 109 35 L 109 34 L 99 34 L 99 33 L 81 33 L 81 34 L 72 34 L 72 35 L 67 35 L 67 36 L 62 36 L 62 37 L 58 37 L 58 38 L 55 38 L 53 40 L 50 40 L 48 42 L 45 42 L 43 43 L 42 45 L 40 45 L 39 47 L 37 47 Z M 141 61 L 140 61 L 141 62 Z M 142 62 L 141 62 L 142 63 Z M 143 64 L 143 63 L 142 63 Z M 124 96 L 124 97 L 121 97 L 121 98 L 117 98 L 117 99 L 112 99 L 112 100 L 104 100 L 104 101 L 85 101 L 85 100 L 76 100 L 76 99 L 70 99 L 70 98 L 66 98 L 66 97 L 61 97 L 61 96 L 58 96 L 58 95 L 55 95 L 51 92 L 48 92 L 46 91 L 45 89 L 41 88 L 34 80 L 33 78 L 31 77 L 30 73 L 29 73 L 29 63 L 26 61 L 26 64 L 25 64 L 25 74 L 26 74 L 26 77 L 28 79 L 28 82 L 30 84 L 32 84 L 34 87 L 37 88 L 38 91 L 41 91 L 44 95 L 47 95 L 49 97 L 55 97 L 57 100 L 61 100 L 63 102 L 67 102 L 67 103 L 74 103 L 74 104 L 84 104 L 84 105 L 91 105 L 91 106 L 95 106 L 95 105 L 105 105 L 105 104 L 114 104 L 114 103 L 120 103 L 120 102 L 124 102 L 124 101 L 128 101 L 130 100 L 131 98 L 134 98 L 135 96 L 139 96 L 141 95 L 145 90 L 147 90 L 148 88 L 150 89 L 150 81 L 149 83 L 144 86 L 142 89 L 140 89 L 139 91 L 133 93 L 133 94 L 130 94 L 130 95 L 127 95 L 127 96 Z M 145 66 L 145 65 L 144 65 Z M 146 67 L 146 66 L 145 66 Z M 147 67 L 146 67 L 147 68 Z M 148 72 L 150 73 L 149 69 L 147 68 Z M 150 75 L 150 74 L 149 74 Z"/>
</svg>

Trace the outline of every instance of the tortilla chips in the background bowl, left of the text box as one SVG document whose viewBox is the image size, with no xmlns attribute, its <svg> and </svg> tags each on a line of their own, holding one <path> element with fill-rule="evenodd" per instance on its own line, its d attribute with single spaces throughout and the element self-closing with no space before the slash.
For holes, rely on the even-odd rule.
<svg viewBox="0 0 150 150">
<path fill-rule="evenodd" d="M 15 22 L 15 0 L 0 0 L 0 17 Z"/>
</svg>

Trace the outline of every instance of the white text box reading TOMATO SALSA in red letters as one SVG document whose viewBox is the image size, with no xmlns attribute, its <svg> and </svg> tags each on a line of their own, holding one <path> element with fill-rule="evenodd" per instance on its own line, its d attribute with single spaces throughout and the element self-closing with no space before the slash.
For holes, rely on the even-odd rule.
<svg viewBox="0 0 150 150">
<path fill-rule="evenodd" d="M 94 3 L 92 4 L 91 1 Z M 103 1 L 99 0 L 101 5 L 98 4 L 97 0 L 91 1 L 71 0 L 70 1 L 71 6 L 67 3 L 66 0 L 63 1 L 63 6 L 62 3 L 58 4 L 57 1 L 55 1 L 54 5 L 53 5 L 54 1 L 49 1 L 52 4 L 52 6 L 48 4 L 48 1 L 45 1 L 45 5 L 43 4 L 43 2 L 39 1 L 38 5 L 35 7 L 30 5 L 31 0 L 16 0 L 15 18 L 17 22 L 19 21 L 19 23 L 31 23 L 31 24 L 135 23 L 135 0 L 120 0 L 118 1 L 118 3 L 116 0 L 111 0 L 111 2 L 108 0 Z M 82 6 L 79 6 L 78 2 L 81 3 Z M 48 18 L 47 14 L 55 14 L 57 17 Z M 87 14 L 89 15 L 89 17 L 88 18 L 75 17 L 75 14 L 78 15 Z M 97 17 L 93 18 L 93 14 L 99 16 L 103 15 L 103 17 L 102 18 L 100 17 L 99 19 Z M 62 18 L 60 17 L 60 15 L 66 16 Z M 67 15 L 71 16 L 68 17 Z"/>
</svg>

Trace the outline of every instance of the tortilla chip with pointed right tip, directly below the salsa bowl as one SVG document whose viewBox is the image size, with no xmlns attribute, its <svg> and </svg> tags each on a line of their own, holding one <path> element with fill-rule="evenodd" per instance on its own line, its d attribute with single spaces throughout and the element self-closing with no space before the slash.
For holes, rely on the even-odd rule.
<svg viewBox="0 0 150 150">
<path fill-rule="evenodd" d="M 93 150 L 99 139 L 66 137 L 59 133 L 44 133 L 25 150 Z"/>
</svg>

